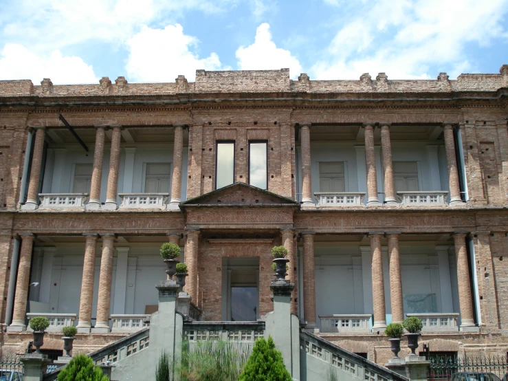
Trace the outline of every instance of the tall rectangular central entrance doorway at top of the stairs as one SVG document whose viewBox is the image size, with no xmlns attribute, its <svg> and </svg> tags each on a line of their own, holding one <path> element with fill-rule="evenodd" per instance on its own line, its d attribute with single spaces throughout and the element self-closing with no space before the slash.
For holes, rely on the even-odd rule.
<svg viewBox="0 0 508 381">
<path fill-rule="evenodd" d="M 222 320 L 256 321 L 259 316 L 259 258 L 222 259 Z"/>
</svg>

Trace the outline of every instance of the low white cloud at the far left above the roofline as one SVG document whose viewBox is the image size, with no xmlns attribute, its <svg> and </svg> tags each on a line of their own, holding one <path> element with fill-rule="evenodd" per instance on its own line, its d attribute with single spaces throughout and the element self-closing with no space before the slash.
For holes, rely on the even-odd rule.
<svg viewBox="0 0 508 381">
<path fill-rule="evenodd" d="M 52 83 L 97 83 L 91 65 L 81 58 L 62 56 L 59 50 L 38 55 L 19 44 L 7 44 L 0 53 L 0 79 L 31 79 L 38 85 L 43 78 Z"/>
</svg>

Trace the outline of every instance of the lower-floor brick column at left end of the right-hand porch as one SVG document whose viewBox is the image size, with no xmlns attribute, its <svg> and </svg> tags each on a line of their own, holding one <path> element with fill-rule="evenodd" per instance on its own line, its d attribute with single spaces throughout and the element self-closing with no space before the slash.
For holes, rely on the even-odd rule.
<svg viewBox="0 0 508 381">
<path fill-rule="evenodd" d="M 303 314 L 307 328 L 316 328 L 316 280 L 314 275 L 314 235 L 302 233 L 303 238 Z"/>
</svg>

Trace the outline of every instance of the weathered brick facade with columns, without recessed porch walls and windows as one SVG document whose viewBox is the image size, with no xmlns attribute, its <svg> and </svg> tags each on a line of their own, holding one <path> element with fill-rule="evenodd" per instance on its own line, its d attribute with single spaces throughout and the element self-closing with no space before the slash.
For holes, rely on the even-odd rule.
<svg viewBox="0 0 508 381">
<path fill-rule="evenodd" d="M 77 146 L 74 138 L 65 135 L 60 114 L 93 146 L 89 152 L 93 161 L 92 157 L 88 161 L 93 162 L 88 207 L 37 206 L 44 150 Z M 270 312 L 270 248 L 284 245 L 291 260 L 289 278 L 297 283 L 291 310 L 300 315 L 302 324 L 314 328 L 319 319 L 316 295 L 322 292 L 315 287 L 315 276 L 319 276 L 315 250 L 354 243 L 371 248 L 364 274 L 372 281 L 374 332 L 354 337 L 322 335 L 384 363 L 390 356 L 382 335 L 389 306 L 385 294 L 391 294 L 393 320 L 404 316 L 399 242 L 430 237 L 456 252 L 462 331 L 426 334 L 423 342 L 432 351 L 505 354 L 507 120 L 507 65 L 500 74 L 462 74 L 456 80 L 446 74 L 437 80 L 388 80 L 382 73 L 375 80 L 368 74 L 356 81 L 309 80 L 302 74 L 294 81 L 288 69 L 281 69 L 198 70 L 195 83 L 182 76 L 175 83 L 152 84 L 131 84 L 123 77 L 115 83 L 102 78 L 95 85 L 0 81 L 0 320 L 4 327 L 8 322 L 23 329 L 32 241 L 34 246 L 45 246 L 54 237 L 57 242 L 77 239 L 82 242 L 85 263 L 76 314 L 87 331 L 95 318 L 92 303 L 97 303 L 97 324 L 102 329 L 79 334 L 77 351 L 118 339 L 118 334 L 107 332 L 113 250 L 122 237 L 136 237 L 137 242 L 164 239 L 184 246 L 189 273 L 186 291 L 206 320 L 223 318 L 223 260 L 236 257 L 258 258 L 257 313 L 261 318 Z M 118 184 L 124 181 L 122 148 L 158 143 L 158 138 L 150 140 L 157 129 L 174 134 L 168 142 L 173 147 L 171 207 L 118 209 Z M 138 131 L 137 138 L 129 131 Z M 348 131 L 353 132 L 341 138 Z M 234 182 L 240 183 L 221 190 L 215 190 L 218 141 L 234 142 Z M 250 181 L 249 144 L 255 141 L 267 142 L 267 191 L 244 185 Z M 393 147 L 414 141 L 442 150 L 446 163 L 441 177 L 448 182 L 449 204 L 399 203 Z M 313 161 L 313 153 L 320 150 L 313 146 L 316 142 L 324 146 L 335 142 L 337 150 L 354 146 L 358 168 L 364 171 L 362 175 L 357 169 L 357 176 L 358 184 L 365 184 L 366 205 L 316 205 L 313 184 L 319 183 L 320 171 L 319 163 Z M 106 153 L 104 148 L 110 146 Z M 104 173 L 107 157 L 109 172 Z M 186 197 L 181 184 L 186 184 Z M 360 186 L 358 190 L 362 191 Z M 19 263 L 12 262 L 15 239 L 20 239 Z M 103 248 L 94 299 L 97 242 Z M 468 242 L 472 248 L 467 248 Z M 393 256 L 389 271 L 383 270 L 382 248 L 386 247 Z M 16 280 L 10 279 L 12 264 Z M 473 281 L 471 265 L 476 270 L 471 271 L 476 274 Z M 45 346 L 60 349 L 56 338 L 47 338 Z M 24 332 L 5 332 L 3 349 L 23 351 L 27 340 L 30 336 Z"/>
</svg>

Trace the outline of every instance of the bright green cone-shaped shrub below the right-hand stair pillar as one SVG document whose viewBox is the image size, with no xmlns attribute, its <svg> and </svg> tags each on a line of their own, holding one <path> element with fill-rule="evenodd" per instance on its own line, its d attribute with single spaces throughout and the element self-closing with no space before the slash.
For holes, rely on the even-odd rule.
<svg viewBox="0 0 508 381">
<path fill-rule="evenodd" d="M 263 375 L 263 378 L 260 378 Z M 291 375 L 284 366 L 283 355 L 275 349 L 272 336 L 258 338 L 252 353 L 243 368 L 238 381 L 291 381 Z"/>
</svg>

